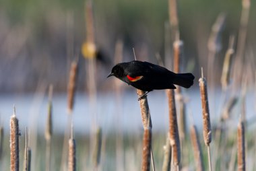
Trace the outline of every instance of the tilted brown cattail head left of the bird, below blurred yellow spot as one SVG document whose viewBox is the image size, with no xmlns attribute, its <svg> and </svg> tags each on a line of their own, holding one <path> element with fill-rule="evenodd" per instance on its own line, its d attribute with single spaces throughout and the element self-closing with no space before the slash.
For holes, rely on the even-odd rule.
<svg viewBox="0 0 256 171">
<path fill-rule="evenodd" d="M 69 83 L 67 86 L 67 112 L 71 114 L 73 111 L 75 88 L 77 82 L 78 65 L 77 61 L 71 63 L 71 69 L 69 72 Z"/>
</svg>

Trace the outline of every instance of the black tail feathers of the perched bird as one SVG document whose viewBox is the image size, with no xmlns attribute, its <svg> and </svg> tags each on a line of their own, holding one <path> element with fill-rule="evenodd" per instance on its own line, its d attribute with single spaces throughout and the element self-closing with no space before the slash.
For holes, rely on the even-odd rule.
<svg viewBox="0 0 256 171">
<path fill-rule="evenodd" d="M 183 88 L 190 88 L 193 85 L 195 76 L 192 73 L 177 73 L 173 83 Z"/>
</svg>

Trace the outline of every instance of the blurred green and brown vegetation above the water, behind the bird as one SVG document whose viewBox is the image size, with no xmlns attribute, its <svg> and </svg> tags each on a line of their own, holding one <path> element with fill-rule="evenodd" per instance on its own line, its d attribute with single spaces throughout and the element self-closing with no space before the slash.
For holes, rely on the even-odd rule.
<svg viewBox="0 0 256 171">
<path fill-rule="evenodd" d="M 55 91 L 65 92 L 73 54 L 86 39 L 84 1 L 1 1 L 0 92 L 34 92 L 39 80 L 53 83 Z M 251 9 L 255 3 L 252 1 Z M 238 34 L 241 1 L 179 1 L 179 28 L 185 42 L 185 64 L 194 63 L 199 75 L 206 67 L 207 41 L 220 13 L 226 13 L 221 36 L 216 75 L 220 75 L 230 34 Z M 164 57 L 164 23 L 168 22 L 168 1 L 94 1 L 95 39 L 104 54 L 98 61 L 98 90 L 111 81 L 104 79 L 114 64 L 115 44 L 124 44 L 123 61 L 133 60 L 133 50 L 141 61 L 156 62 Z M 250 11 L 247 46 L 255 53 L 255 10 Z M 86 82 L 84 62 L 79 65 L 78 90 Z M 58 78 L 58 79 L 56 79 Z"/>
</svg>

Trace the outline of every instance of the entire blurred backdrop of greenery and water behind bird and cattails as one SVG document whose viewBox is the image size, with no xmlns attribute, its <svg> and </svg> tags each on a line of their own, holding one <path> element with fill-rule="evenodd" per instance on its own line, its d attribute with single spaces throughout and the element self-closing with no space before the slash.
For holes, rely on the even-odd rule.
<svg viewBox="0 0 256 171">
<path fill-rule="evenodd" d="M 209 83 L 211 120 L 214 129 L 218 127 L 222 110 L 232 97 L 236 99 L 236 105 L 232 110 L 234 120 L 230 121 L 229 125 L 232 131 L 236 129 L 241 111 L 247 113 L 248 121 L 255 123 L 255 1 L 251 1 L 241 61 L 236 60 L 238 57 L 235 58 L 238 32 L 243 28 L 241 1 L 179 0 L 177 9 L 179 38 L 184 43 L 181 72 L 191 72 L 195 75 L 194 86 L 189 90 L 182 90 L 186 99 L 187 125 L 195 123 L 201 131 L 201 100 L 198 86 L 201 67 Z M 51 167 L 59 169 L 63 166 L 61 152 L 65 149 L 65 143 L 63 147 L 61 145 L 71 122 L 71 115 L 67 114 L 67 85 L 71 62 L 77 60 L 75 102 L 71 114 L 79 149 L 78 170 L 93 168 L 91 160 L 87 159 L 91 158 L 91 141 L 97 127 L 102 129 L 103 135 L 100 169 L 119 170 L 118 168 L 123 167 L 125 170 L 139 170 L 143 127 L 136 90 L 115 78 L 106 79 L 106 76 L 117 61 L 134 60 L 133 48 L 137 60 L 155 64 L 162 62 L 168 69 L 172 69 L 172 42 L 175 38 L 170 35 L 172 30 L 169 26 L 168 10 L 168 1 L 92 1 L 97 55 L 95 63 L 90 63 L 90 59 L 84 58 L 82 53 L 83 44 L 88 38 L 88 13 L 86 14 L 84 0 L 1 0 L 0 125 L 5 128 L 6 157 L 1 162 L 2 166 L 9 167 L 9 116 L 13 113 L 12 108 L 15 104 L 22 133 L 20 141 L 24 145 L 24 130 L 28 127 L 32 150 L 38 147 L 38 158 L 32 163 L 32 168 L 44 170 L 44 162 L 40 160 L 44 159 L 46 145 L 43 134 L 46 128 L 50 84 L 53 85 L 53 98 L 50 100 L 53 102 L 53 146 L 56 148 L 52 159 L 54 164 Z M 218 16 L 222 16 L 222 24 L 216 22 Z M 210 38 L 216 29 L 215 23 L 220 24 L 220 29 L 217 29 L 214 62 L 211 63 Z M 245 85 L 241 82 L 236 83 L 236 88 L 230 86 L 232 88 L 228 87 L 225 92 L 220 80 L 226 50 L 230 47 L 230 35 L 235 37 L 235 55 L 230 69 L 231 80 L 235 79 L 236 74 L 248 76 L 246 81 L 244 80 Z M 117 52 L 118 44 L 123 47 L 121 54 Z M 234 63 L 236 65 L 233 65 Z M 93 78 L 90 75 L 93 75 Z M 150 92 L 148 100 L 157 156 L 156 167 L 161 168 L 162 146 L 168 130 L 166 92 Z M 116 141 L 120 135 L 121 140 Z M 117 147 L 120 144 L 123 145 L 123 149 Z M 228 146 L 230 151 L 231 146 Z M 35 154 L 33 151 L 33 155 Z M 121 160 L 124 164 L 121 166 L 118 166 L 117 162 L 119 155 L 123 155 Z M 193 157 L 190 155 L 188 158 L 187 164 Z M 249 159 L 253 160 L 253 157 Z M 220 164 L 218 167 L 221 168 Z"/>
</svg>

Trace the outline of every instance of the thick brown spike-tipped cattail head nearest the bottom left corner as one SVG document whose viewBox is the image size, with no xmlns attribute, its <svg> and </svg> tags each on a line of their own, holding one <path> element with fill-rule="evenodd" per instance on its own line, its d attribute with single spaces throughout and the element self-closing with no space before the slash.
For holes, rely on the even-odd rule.
<svg viewBox="0 0 256 171">
<path fill-rule="evenodd" d="M 11 171 L 19 170 L 19 121 L 15 116 L 15 107 L 10 120 L 10 151 L 11 151 Z"/>
</svg>

